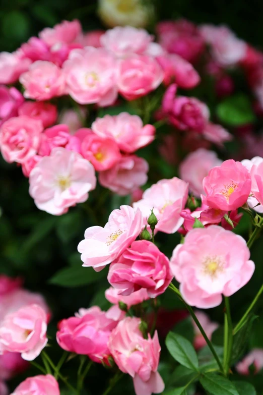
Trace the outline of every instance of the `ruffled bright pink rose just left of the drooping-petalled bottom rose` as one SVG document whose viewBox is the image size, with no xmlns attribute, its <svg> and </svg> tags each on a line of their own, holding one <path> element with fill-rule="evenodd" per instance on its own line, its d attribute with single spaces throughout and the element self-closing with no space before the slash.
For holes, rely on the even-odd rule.
<svg viewBox="0 0 263 395">
<path fill-rule="evenodd" d="M 108 318 L 107 313 L 97 306 L 81 310 L 76 317 L 59 322 L 57 343 L 63 350 L 88 355 L 98 363 L 107 362 L 109 335 L 117 321 Z"/>
</svg>

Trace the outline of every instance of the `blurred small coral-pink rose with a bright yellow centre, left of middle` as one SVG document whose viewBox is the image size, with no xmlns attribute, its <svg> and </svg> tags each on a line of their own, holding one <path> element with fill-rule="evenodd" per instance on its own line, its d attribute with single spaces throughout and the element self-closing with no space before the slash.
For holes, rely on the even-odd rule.
<svg viewBox="0 0 263 395">
<path fill-rule="evenodd" d="M 81 154 L 88 159 L 96 171 L 108 170 L 120 158 L 120 151 L 114 140 L 103 139 L 95 134 L 88 134 L 81 143 Z"/>
</svg>

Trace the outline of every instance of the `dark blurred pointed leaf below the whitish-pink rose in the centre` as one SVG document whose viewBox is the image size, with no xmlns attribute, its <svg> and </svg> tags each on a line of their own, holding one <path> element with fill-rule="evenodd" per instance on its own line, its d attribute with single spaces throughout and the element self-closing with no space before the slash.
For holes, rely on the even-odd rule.
<svg viewBox="0 0 263 395">
<path fill-rule="evenodd" d="M 56 272 L 48 282 L 60 287 L 81 287 L 106 276 L 107 270 L 96 272 L 91 267 L 71 266 Z"/>
</svg>

